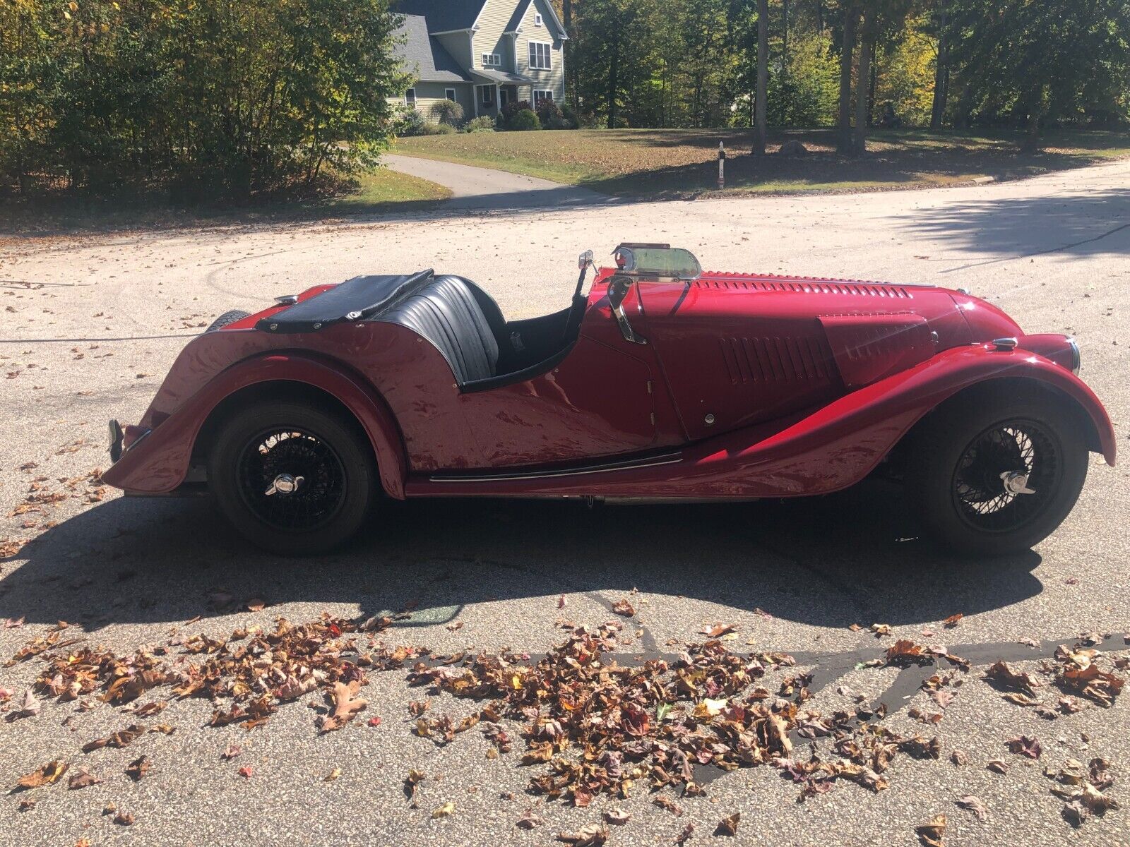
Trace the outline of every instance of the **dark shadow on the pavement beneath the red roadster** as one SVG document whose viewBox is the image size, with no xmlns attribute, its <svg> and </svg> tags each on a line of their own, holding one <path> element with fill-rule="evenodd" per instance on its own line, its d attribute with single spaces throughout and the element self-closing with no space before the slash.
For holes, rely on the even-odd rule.
<svg viewBox="0 0 1130 847">
<path fill-rule="evenodd" d="M 914 539 L 899 494 L 869 482 L 759 504 L 390 503 L 367 538 L 313 559 L 252 549 L 207 500 L 115 499 L 24 548 L 0 617 L 87 629 L 180 621 L 209 615 L 207 596 L 223 588 L 269 604 L 356 603 L 366 615 L 418 601 L 412 621 L 438 623 L 480 602 L 637 587 L 846 627 L 938 621 L 1042 591 L 1033 552 L 970 561 Z"/>
</svg>

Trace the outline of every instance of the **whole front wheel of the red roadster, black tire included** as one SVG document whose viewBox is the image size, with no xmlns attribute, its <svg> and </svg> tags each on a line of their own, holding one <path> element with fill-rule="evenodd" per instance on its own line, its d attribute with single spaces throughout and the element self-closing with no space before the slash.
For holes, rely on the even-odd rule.
<svg viewBox="0 0 1130 847">
<path fill-rule="evenodd" d="M 1088 422 L 1051 391 L 986 384 L 930 413 L 907 445 L 906 492 L 928 532 L 958 552 L 1028 550 L 1068 516 L 1087 478 Z M 1034 494 L 1000 474 L 1026 472 Z M 1019 480 L 1014 480 L 1018 484 Z"/>
</svg>

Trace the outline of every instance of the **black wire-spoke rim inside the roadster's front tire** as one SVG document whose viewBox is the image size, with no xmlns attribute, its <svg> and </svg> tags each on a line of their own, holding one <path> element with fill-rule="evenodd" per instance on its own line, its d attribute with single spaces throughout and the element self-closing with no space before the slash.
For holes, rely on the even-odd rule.
<svg viewBox="0 0 1130 847">
<path fill-rule="evenodd" d="M 982 532 L 1019 530 L 1054 499 L 1063 475 L 1054 434 L 1035 420 L 1007 420 L 971 440 L 954 470 L 954 506 Z"/>
</svg>

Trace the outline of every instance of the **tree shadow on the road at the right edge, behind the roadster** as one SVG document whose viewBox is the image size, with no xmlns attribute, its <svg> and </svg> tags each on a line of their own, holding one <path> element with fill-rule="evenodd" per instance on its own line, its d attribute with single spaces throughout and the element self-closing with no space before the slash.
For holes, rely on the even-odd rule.
<svg viewBox="0 0 1130 847">
<path fill-rule="evenodd" d="M 972 253 L 1026 257 L 1130 253 L 1130 189 L 1006 197 L 920 208 L 899 217 L 914 236 Z"/>
</svg>

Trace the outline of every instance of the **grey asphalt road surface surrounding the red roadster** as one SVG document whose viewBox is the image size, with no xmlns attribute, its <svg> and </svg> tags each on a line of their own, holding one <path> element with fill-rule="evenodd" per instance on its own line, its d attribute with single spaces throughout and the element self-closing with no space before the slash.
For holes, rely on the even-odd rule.
<svg viewBox="0 0 1130 847">
<path fill-rule="evenodd" d="M 684 815 L 675 818 L 642 789 L 588 809 L 540 803 L 524 787 L 541 766 L 518 765 L 521 742 L 489 760 L 478 732 L 445 748 L 416 737 L 407 705 L 420 691 L 403 672 L 371 674 L 363 689 L 368 709 L 325 735 L 301 702 L 249 732 L 205 726 L 207 702 L 177 701 L 166 691 L 159 696 L 172 705 L 160 721 L 175 725 L 174 734 L 90 754 L 79 748 L 133 719 L 97 701 L 87 711 L 44 701 L 31 717 L 14 717 L 18 706 L 9 704 L 0 719 L 5 789 L 51 759 L 88 767 L 103 781 L 0 795 L 0 844 L 547 845 L 612 805 L 632 820 L 612 829 L 609 845 L 671 844 L 688 821 L 696 824 L 692 845 L 913 845 L 913 828 L 938 813 L 948 818 L 950 846 L 1130 842 L 1130 692 L 1110 708 L 1092 705 L 1044 721 L 979 679 L 994 657 L 1035 671 L 1051 645 L 1080 632 L 1116 634 L 1109 648 L 1127 655 L 1124 465 L 1110 469 L 1096 457 L 1063 526 L 1032 552 L 994 562 L 938 553 L 915 536 L 898 491 L 878 486 L 759 505 L 394 504 L 351 550 L 302 561 L 250 549 L 206 501 L 124 500 L 106 491 L 88 503 L 88 483 L 76 481 L 105 465 L 106 419 L 137 419 L 185 338 L 228 308 L 253 309 L 271 296 L 356 273 L 435 267 L 484 283 L 508 316 L 532 316 L 567 302 L 579 252 L 606 254 L 618 241 L 670 241 L 709 268 L 966 287 L 1026 329 L 1078 337 L 1083 375 L 1106 402 L 1124 452 L 1128 186 L 1130 163 L 1115 163 L 951 190 L 481 213 L 447 208 L 355 222 L 0 242 L 0 377 L 10 377 L 0 378 L 0 538 L 27 540 L 0 561 L 0 620 L 25 620 L 0 628 L 0 660 L 59 620 L 70 622 L 69 636 L 131 652 L 174 632 L 221 636 L 238 626 L 270 627 L 279 615 L 355 617 L 412 601 L 416 611 L 384 632 L 386 643 L 537 653 L 560 639 L 555 621 L 563 615 L 609 620 L 611 604 L 636 590 L 634 641 L 624 649 L 641 653 L 623 661 L 701 640 L 704 625 L 732 623 L 731 649 L 791 652 L 816 669 L 819 690 L 808 706 L 829 711 L 852 693 L 885 699 L 892 714 L 883 725 L 937 732 L 942 745 L 940 760 L 901 757 L 885 792 L 845 783 L 802 804 L 798 786 L 772 768 L 714 774 L 706 795 L 680 800 Z M 42 512 L 9 515 L 38 478 L 38 494 L 68 496 Z M 218 590 L 267 605 L 219 613 L 209 602 Z M 559 609 L 563 594 L 567 604 Z M 965 615 L 957 628 L 942 629 L 940 621 L 957 612 Z M 463 626 L 449 629 L 455 622 Z M 849 629 L 853 623 L 864 630 Z M 892 636 L 870 635 L 871 623 L 890 625 Z M 975 663 L 936 728 L 907 714 L 929 705 L 916 680 L 893 669 L 855 669 L 895 637 L 944 640 Z M 40 666 L 36 658 L 0 666 L 0 688 L 18 700 Z M 472 708 L 446 697 L 433 704 L 434 713 L 454 716 Z M 374 715 L 382 718 L 377 727 L 365 723 Z M 1040 740 L 1038 761 L 1005 749 L 1016 735 Z M 232 743 L 242 756 L 223 760 Z M 953 765 L 953 750 L 965 751 L 968 763 Z M 153 771 L 133 783 L 123 771 L 141 754 Z M 1068 757 L 1109 759 L 1115 783 L 1107 793 L 1123 807 L 1072 829 L 1042 774 Z M 991 759 L 1006 760 L 1008 771 L 988 770 Z M 244 766 L 253 768 L 250 778 L 237 774 Z M 325 781 L 334 768 L 340 777 Z M 402 792 L 409 768 L 428 775 L 418 807 Z M 988 807 L 983 822 L 955 805 L 970 794 Z M 34 807 L 19 811 L 28 798 Z M 449 801 L 454 812 L 433 819 Z M 114 824 L 103 814 L 107 803 L 132 813 L 133 826 Z M 529 806 L 546 823 L 520 830 L 514 822 Z M 733 812 L 741 813 L 738 837 L 712 837 Z"/>
</svg>

